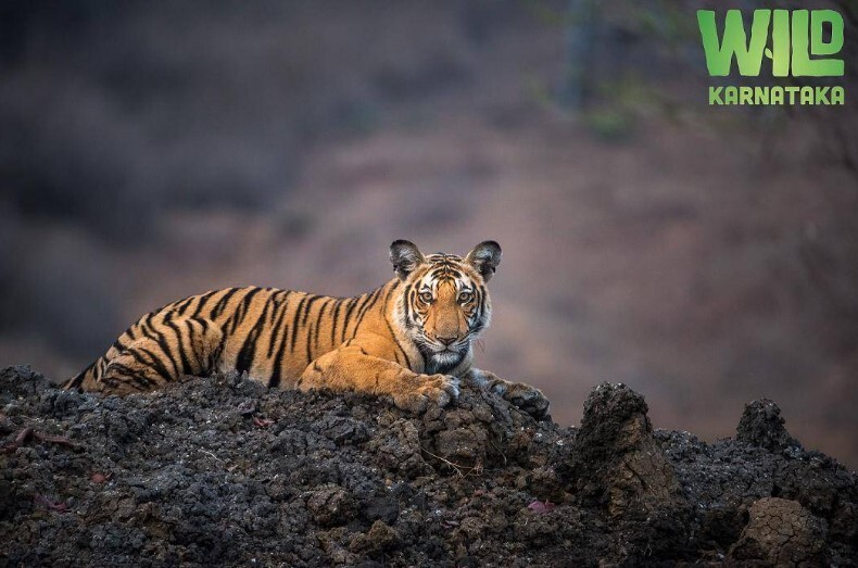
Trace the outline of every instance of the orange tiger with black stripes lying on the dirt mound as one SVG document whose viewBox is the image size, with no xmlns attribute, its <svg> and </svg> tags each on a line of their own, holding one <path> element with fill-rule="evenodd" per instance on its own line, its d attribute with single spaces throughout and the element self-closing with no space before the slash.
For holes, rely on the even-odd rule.
<svg viewBox="0 0 858 568">
<path fill-rule="evenodd" d="M 394 277 L 362 295 L 260 287 L 191 295 L 141 317 L 63 387 L 126 395 L 235 370 L 272 388 L 390 396 L 422 413 L 430 403 L 447 406 L 470 381 L 543 416 L 548 401 L 539 389 L 472 366 L 501 255 L 491 240 L 464 257 L 424 255 L 396 240 Z"/>
</svg>

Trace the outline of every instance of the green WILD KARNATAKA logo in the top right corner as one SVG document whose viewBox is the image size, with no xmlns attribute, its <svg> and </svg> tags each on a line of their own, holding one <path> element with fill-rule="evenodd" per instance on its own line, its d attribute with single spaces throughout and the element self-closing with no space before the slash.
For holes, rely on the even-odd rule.
<svg viewBox="0 0 858 568">
<path fill-rule="evenodd" d="M 755 10 L 750 37 L 741 10 L 728 10 L 719 40 L 716 13 L 697 11 L 706 67 L 711 77 L 759 77 L 771 60 L 771 76 L 842 77 L 843 16 L 834 10 Z M 768 66 L 767 66 L 768 67 Z M 709 104 L 844 104 L 841 86 L 709 87 Z"/>
</svg>

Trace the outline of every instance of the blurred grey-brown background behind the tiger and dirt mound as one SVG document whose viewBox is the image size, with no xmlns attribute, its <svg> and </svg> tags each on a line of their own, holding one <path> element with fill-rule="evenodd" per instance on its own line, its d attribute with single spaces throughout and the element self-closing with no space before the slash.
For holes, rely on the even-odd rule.
<svg viewBox="0 0 858 568">
<path fill-rule="evenodd" d="M 706 3 L 641 5 L 4 1 L 0 365 L 59 381 L 178 298 L 495 239 L 478 364 L 557 421 L 621 381 L 712 440 L 768 396 L 855 467 L 856 4 L 819 3 L 830 109 L 709 106 Z"/>
</svg>

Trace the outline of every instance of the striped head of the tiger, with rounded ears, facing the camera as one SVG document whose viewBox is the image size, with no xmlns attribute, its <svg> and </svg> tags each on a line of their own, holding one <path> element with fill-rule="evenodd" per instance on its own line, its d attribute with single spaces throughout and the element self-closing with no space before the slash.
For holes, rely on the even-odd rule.
<svg viewBox="0 0 858 568">
<path fill-rule="evenodd" d="M 485 288 L 501 263 L 501 247 L 484 241 L 464 258 L 424 256 L 412 242 L 390 245 L 390 262 L 402 280 L 394 319 L 427 362 L 427 373 L 449 373 L 470 353 L 489 326 L 492 304 Z"/>
</svg>

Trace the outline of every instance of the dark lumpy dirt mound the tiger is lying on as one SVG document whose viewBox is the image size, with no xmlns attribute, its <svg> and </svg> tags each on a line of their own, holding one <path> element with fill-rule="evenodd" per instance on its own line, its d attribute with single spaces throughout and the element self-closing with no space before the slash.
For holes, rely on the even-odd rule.
<svg viewBox="0 0 858 568">
<path fill-rule="evenodd" d="M 10 566 L 858 558 L 858 478 L 770 401 L 746 409 L 753 436 L 714 444 L 654 431 L 643 397 L 607 383 L 580 429 L 468 388 L 412 416 L 237 375 L 101 399 L 9 367 L 0 405 Z"/>
</svg>

